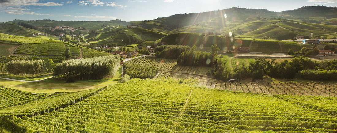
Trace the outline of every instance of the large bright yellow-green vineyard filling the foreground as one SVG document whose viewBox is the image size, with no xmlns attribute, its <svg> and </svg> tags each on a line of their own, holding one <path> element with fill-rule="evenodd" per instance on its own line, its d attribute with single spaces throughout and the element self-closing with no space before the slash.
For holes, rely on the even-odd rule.
<svg viewBox="0 0 337 133">
<path fill-rule="evenodd" d="M 13 106 L 0 115 L 27 114 L 8 118 L 28 132 L 337 131 L 335 97 L 270 96 L 140 79 L 94 92 L 56 93 L 19 105 L 34 111 Z M 73 97 L 55 101 L 66 95 Z"/>
</svg>

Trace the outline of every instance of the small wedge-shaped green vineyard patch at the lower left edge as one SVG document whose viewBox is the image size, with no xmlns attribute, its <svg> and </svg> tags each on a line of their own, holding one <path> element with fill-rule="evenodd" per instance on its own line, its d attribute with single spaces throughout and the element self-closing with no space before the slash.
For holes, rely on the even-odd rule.
<svg viewBox="0 0 337 133">
<path fill-rule="evenodd" d="M 0 86 L 0 108 L 7 108 L 40 99 L 44 95 L 17 91 Z"/>
</svg>

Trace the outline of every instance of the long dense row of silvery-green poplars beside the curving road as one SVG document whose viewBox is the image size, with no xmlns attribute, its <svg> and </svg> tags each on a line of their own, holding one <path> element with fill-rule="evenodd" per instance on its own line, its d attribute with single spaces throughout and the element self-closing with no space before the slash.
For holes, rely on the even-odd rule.
<svg viewBox="0 0 337 133">
<path fill-rule="evenodd" d="M 115 75 L 119 65 L 118 55 L 67 60 L 55 66 L 53 76 L 61 79 L 70 75 L 76 79 L 101 79 Z"/>
</svg>

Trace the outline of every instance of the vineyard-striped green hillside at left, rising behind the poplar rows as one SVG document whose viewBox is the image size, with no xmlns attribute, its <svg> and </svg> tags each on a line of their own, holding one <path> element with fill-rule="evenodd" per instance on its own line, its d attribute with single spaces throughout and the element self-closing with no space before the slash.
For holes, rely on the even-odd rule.
<svg viewBox="0 0 337 133">
<path fill-rule="evenodd" d="M 83 58 L 110 55 L 110 53 L 97 51 L 72 43 L 2 33 L 0 33 L 0 47 L 0 62 L 8 62 L 11 60 L 53 59 L 54 62 L 58 63 L 65 59 L 64 54 L 66 47 L 70 48 L 73 58 L 80 57 L 80 49 L 82 49 Z"/>
</svg>

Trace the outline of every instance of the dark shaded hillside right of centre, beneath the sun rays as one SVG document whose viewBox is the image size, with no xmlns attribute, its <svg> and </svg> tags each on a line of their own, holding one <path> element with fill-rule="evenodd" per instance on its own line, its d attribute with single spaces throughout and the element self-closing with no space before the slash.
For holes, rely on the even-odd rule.
<svg viewBox="0 0 337 133">
<path fill-rule="evenodd" d="M 156 42 L 166 42 L 166 45 L 196 45 L 202 51 L 209 51 L 210 46 L 217 44 L 219 52 L 231 51 L 240 46 L 251 46 L 250 52 L 281 52 L 286 53 L 289 49 L 301 50 L 303 45 L 293 41 L 274 41 L 266 39 L 233 38 L 218 35 L 203 35 L 198 33 L 172 33 Z M 252 44 L 252 45 L 250 45 Z"/>
</svg>

